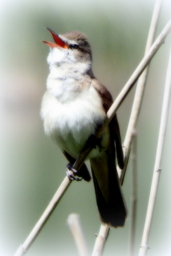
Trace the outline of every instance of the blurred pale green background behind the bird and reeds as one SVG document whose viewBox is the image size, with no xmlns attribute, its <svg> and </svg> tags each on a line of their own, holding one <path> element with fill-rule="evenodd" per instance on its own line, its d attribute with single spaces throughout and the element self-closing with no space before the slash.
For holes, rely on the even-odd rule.
<svg viewBox="0 0 171 256">
<path fill-rule="evenodd" d="M 46 138 L 39 117 L 45 92 L 48 47 L 45 27 L 62 34 L 80 30 L 93 50 L 93 70 L 115 98 L 143 57 L 154 0 L 1 0 L 1 218 L 0 255 L 18 249 L 65 177 L 67 161 Z M 171 2 L 163 1 L 157 35 L 171 17 Z M 156 154 L 170 36 L 152 60 L 140 115 L 138 134 L 138 205 L 135 255 L 139 251 Z M 124 140 L 134 91 L 118 110 Z M 150 234 L 150 256 L 171 254 L 170 130 L 162 161 L 161 180 Z M 131 168 L 123 190 L 130 208 Z M 31 246 L 28 256 L 77 255 L 66 223 L 80 214 L 89 252 L 100 221 L 93 182 L 73 182 L 58 208 Z M 130 211 L 129 211 L 130 213 Z M 111 229 L 104 255 L 126 255 L 129 218 L 124 228 Z"/>
</svg>

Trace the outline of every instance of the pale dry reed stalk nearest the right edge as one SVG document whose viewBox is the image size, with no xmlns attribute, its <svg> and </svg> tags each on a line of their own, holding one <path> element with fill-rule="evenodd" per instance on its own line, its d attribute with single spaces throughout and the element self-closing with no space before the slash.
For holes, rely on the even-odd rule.
<svg viewBox="0 0 171 256">
<path fill-rule="evenodd" d="M 170 105 L 170 94 L 171 94 L 171 49 L 170 49 L 169 64 L 167 69 L 166 85 L 165 85 L 164 99 L 163 99 L 162 112 L 161 112 L 156 160 L 154 164 L 149 204 L 146 212 L 146 219 L 145 219 L 145 225 L 144 225 L 144 231 L 143 231 L 139 256 L 145 256 L 149 248 L 148 239 L 149 239 L 149 234 L 151 229 L 154 204 L 156 202 L 159 178 L 161 173 L 161 157 L 162 157 L 162 151 L 163 151 L 165 135 L 166 135 L 167 119 L 168 119 L 168 112 L 169 112 L 169 105 Z"/>
</svg>

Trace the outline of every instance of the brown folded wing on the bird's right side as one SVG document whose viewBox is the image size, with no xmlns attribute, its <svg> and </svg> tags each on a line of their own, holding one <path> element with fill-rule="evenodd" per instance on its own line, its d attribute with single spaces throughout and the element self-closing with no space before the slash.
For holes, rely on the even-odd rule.
<svg viewBox="0 0 171 256">
<path fill-rule="evenodd" d="M 96 89 L 96 91 L 99 93 L 100 97 L 102 98 L 103 108 L 104 108 L 105 113 L 107 113 L 113 103 L 113 99 L 112 99 L 110 92 L 108 91 L 107 87 L 105 87 L 96 78 L 92 79 L 92 85 Z M 112 120 L 109 124 L 109 127 L 110 127 L 110 131 L 111 131 L 111 143 L 112 143 L 112 141 L 115 141 L 118 165 L 119 165 L 120 169 L 123 169 L 124 168 L 124 155 L 123 155 L 123 148 L 121 145 L 120 129 L 119 129 L 117 115 L 115 115 L 112 118 Z"/>
</svg>

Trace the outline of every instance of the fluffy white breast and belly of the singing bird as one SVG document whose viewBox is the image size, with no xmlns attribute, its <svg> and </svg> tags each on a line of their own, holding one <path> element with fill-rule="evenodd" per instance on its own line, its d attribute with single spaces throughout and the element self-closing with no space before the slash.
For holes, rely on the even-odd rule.
<svg viewBox="0 0 171 256">
<path fill-rule="evenodd" d="M 61 90 L 61 84 L 59 88 Z M 93 86 L 76 94 L 69 88 L 67 86 L 62 92 L 65 100 L 59 100 L 60 97 L 58 99 L 51 90 L 47 90 L 42 101 L 41 116 L 45 133 L 69 154 L 78 156 L 88 137 L 95 133 L 97 124 L 103 122 L 105 113 L 101 98 Z"/>
</svg>

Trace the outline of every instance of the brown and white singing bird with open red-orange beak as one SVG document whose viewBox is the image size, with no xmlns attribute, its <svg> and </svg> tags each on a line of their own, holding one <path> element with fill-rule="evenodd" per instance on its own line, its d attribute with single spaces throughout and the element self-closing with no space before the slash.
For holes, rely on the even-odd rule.
<svg viewBox="0 0 171 256">
<path fill-rule="evenodd" d="M 91 45 L 84 33 L 74 30 L 60 35 L 50 28 L 47 30 L 54 42 L 43 41 L 50 47 L 47 57 L 50 74 L 40 110 L 45 134 L 68 159 L 68 170 L 72 170 L 87 141 L 92 142 L 87 159 L 91 164 L 100 220 L 109 227 L 123 227 L 127 208 L 116 158 L 123 169 L 124 156 L 116 115 L 101 138 L 95 139 L 113 103 L 111 93 L 93 74 Z M 91 180 L 85 163 L 76 174 L 80 178 L 67 172 L 70 179 Z"/>
</svg>

